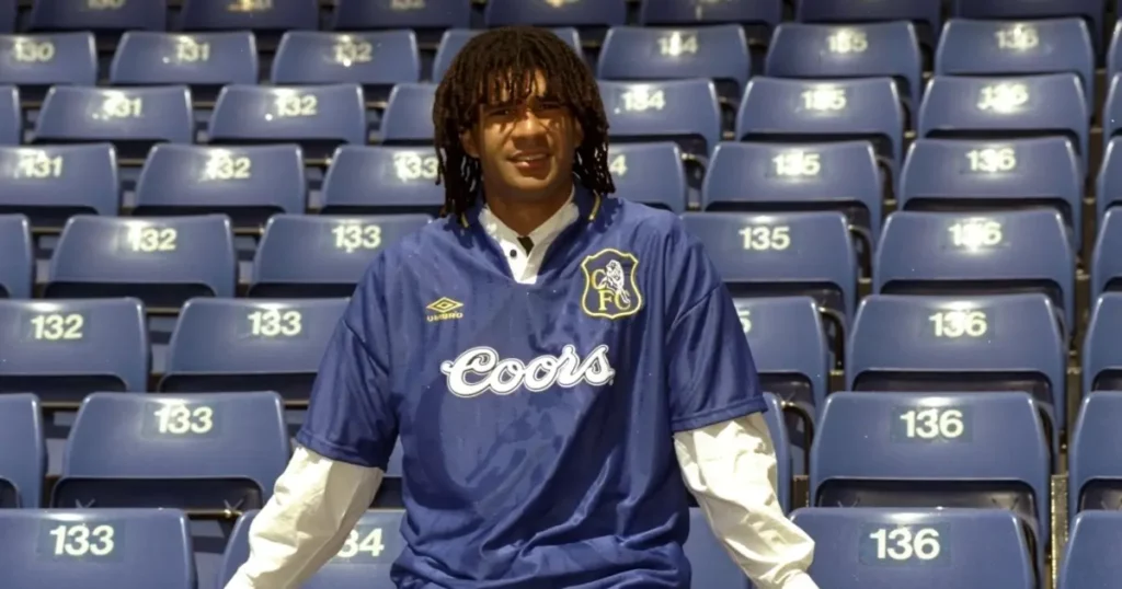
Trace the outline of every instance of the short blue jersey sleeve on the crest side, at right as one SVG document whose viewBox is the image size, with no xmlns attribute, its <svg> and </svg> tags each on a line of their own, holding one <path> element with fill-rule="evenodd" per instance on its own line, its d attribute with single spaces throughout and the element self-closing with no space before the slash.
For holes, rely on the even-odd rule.
<svg viewBox="0 0 1122 589">
<path fill-rule="evenodd" d="M 682 230 L 684 231 L 684 230 Z M 748 341 L 728 289 L 702 246 L 677 236 L 668 280 L 671 429 L 677 433 L 767 411 Z M 677 251 L 673 251 L 677 250 Z"/>
</svg>

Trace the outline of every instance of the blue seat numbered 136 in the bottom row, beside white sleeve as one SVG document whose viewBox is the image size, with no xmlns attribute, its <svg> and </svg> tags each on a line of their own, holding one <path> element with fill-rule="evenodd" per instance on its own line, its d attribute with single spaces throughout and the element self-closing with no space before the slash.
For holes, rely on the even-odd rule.
<svg viewBox="0 0 1122 589">
<path fill-rule="evenodd" d="M 810 576 L 830 589 L 1040 587 L 1020 522 L 1002 509 L 808 507 L 793 519 L 815 540 Z"/>
</svg>

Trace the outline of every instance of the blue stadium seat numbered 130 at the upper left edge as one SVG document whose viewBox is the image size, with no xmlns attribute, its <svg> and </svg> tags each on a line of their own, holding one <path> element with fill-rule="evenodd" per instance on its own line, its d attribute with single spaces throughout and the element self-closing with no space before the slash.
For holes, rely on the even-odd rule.
<svg viewBox="0 0 1122 589">
<path fill-rule="evenodd" d="M 21 99 L 42 99 L 48 86 L 98 83 L 92 33 L 0 36 L 0 84 L 20 88 Z"/>
</svg>

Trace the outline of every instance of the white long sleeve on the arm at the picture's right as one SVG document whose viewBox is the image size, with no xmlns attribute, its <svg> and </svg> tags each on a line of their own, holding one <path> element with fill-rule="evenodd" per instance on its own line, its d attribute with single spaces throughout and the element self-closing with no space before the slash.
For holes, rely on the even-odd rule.
<svg viewBox="0 0 1122 589">
<path fill-rule="evenodd" d="M 815 542 L 787 518 L 775 449 L 756 413 L 674 434 L 682 477 L 714 535 L 760 589 L 818 589 L 807 574 Z"/>
</svg>

